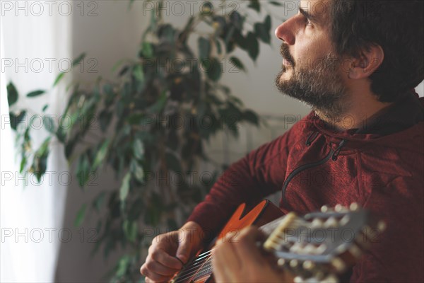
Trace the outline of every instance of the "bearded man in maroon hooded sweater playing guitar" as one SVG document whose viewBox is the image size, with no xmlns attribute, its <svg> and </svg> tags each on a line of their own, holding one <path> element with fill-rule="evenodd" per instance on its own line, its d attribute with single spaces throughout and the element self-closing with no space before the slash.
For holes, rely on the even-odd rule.
<svg viewBox="0 0 424 283">
<path fill-rule="evenodd" d="M 146 281 L 170 279 L 240 203 L 281 191 L 284 213 L 357 202 L 384 219 L 352 282 L 423 282 L 424 102 L 413 91 L 424 79 L 423 27 L 421 1 L 300 1 L 276 29 L 276 86 L 312 112 L 232 164 L 182 229 L 153 240 Z M 251 227 L 218 244 L 218 282 L 292 280 L 259 253 L 259 238 Z"/>
</svg>

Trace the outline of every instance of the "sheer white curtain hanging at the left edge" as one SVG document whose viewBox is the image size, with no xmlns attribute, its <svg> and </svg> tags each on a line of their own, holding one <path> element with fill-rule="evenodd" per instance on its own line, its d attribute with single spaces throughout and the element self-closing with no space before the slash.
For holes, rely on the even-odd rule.
<svg viewBox="0 0 424 283">
<path fill-rule="evenodd" d="M 68 235 L 62 227 L 66 175 L 63 148 L 56 142 L 47 161 L 49 178 L 35 182 L 20 176 L 14 133 L 8 122 L 6 84 L 13 81 L 20 94 L 18 108 L 32 115 L 59 117 L 66 103 L 65 86 L 52 88 L 60 70 L 71 61 L 71 14 L 54 1 L 1 2 L 1 282 L 54 282 L 59 244 Z M 6 3 L 7 2 L 7 3 Z M 53 3 L 54 2 L 54 3 Z M 67 1 L 69 4 L 70 2 Z M 38 89 L 47 93 L 25 98 Z M 26 122 L 28 127 L 28 122 Z M 33 146 L 46 137 L 46 129 L 33 129 Z M 39 129 L 40 128 L 40 129 Z"/>
</svg>

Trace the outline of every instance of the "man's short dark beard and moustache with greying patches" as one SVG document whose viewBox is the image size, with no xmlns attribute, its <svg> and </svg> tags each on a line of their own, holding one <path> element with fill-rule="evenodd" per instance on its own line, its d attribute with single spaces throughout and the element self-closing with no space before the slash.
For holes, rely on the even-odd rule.
<svg viewBox="0 0 424 283">
<path fill-rule="evenodd" d="M 297 98 L 326 120 L 338 121 L 348 108 L 346 103 L 346 86 L 339 74 L 340 61 L 334 55 L 314 62 L 311 67 L 296 68 L 293 57 L 288 53 L 288 47 L 282 45 L 281 54 L 292 64 L 293 76 L 287 81 L 280 81 L 281 75 L 287 71 L 283 69 L 276 77 L 276 86 L 286 95 Z"/>
</svg>

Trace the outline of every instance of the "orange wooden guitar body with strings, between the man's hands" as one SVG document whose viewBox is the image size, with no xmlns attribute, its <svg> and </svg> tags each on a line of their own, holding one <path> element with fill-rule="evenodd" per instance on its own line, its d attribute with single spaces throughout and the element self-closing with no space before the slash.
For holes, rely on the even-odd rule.
<svg viewBox="0 0 424 283">
<path fill-rule="evenodd" d="M 269 200 L 263 200 L 253 209 L 249 210 L 246 204 L 240 204 L 230 220 L 225 224 L 224 228 L 218 234 L 216 241 L 223 238 L 227 233 L 232 231 L 240 231 L 250 226 L 262 226 L 278 217 L 283 216 L 283 212 Z M 199 260 L 199 264 L 194 262 L 189 270 L 182 270 L 172 279 L 172 282 L 194 282 L 194 283 L 211 283 L 213 282 L 211 259 Z"/>
</svg>

